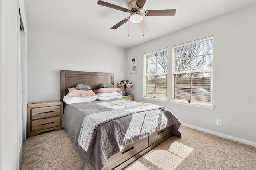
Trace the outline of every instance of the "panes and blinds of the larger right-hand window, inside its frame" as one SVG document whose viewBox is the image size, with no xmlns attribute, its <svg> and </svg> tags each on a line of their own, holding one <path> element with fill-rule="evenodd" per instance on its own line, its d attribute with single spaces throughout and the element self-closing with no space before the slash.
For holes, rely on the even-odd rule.
<svg viewBox="0 0 256 170">
<path fill-rule="evenodd" d="M 173 98 L 212 103 L 213 38 L 173 47 Z"/>
</svg>

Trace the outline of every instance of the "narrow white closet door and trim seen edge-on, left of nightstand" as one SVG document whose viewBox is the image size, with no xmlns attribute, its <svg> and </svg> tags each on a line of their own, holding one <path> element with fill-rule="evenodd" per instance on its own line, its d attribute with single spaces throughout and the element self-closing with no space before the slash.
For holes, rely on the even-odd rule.
<svg viewBox="0 0 256 170">
<path fill-rule="evenodd" d="M 17 169 L 22 162 L 22 143 L 27 136 L 27 25 L 24 0 L 18 0 L 18 111 L 17 111 Z"/>
</svg>

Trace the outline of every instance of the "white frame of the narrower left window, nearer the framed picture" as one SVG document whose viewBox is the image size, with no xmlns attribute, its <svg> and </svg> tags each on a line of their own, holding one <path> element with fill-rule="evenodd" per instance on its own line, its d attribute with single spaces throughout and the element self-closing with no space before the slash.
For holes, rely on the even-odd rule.
<svg viewBox="0 0 256 170">
<path fill-rule="evenodd" d="M 156 98 L 153 98 L 153 97 L 150 97 L 150 96 L 146 96 L 146 89 L 147 89 L 147 76 L 148 76 L 148 73 L 147 73 L 147 55 L 148 54 L 151 54 L 151 53 L 157 53 L 159 51 L 164 51 L 164 50 L 167 50 L 167 64 L 168 64 L 168 48 L 163 48 L 163 49 L 159 49 L 159 50 L 156 50 L 156 51 L 151 51 L 151 52 L 148 52 L 148 53 L 144 53 L 144 69 L 143 69 L 143 96 L 142 98 L 143 99 L 148 99 L 148 100 L 156 100 L 156 101 L 160 101 L 160 102 L 168 102 L 167 98 L 168 98 L 168 71 L 166 73 L 156 73 L 156 75 L 166 75 L 167 76 L 167 80 L 166 80 L 166 98 L 160 98 L 160 97 L 156 97 Z M 159 62 L 157 62 L 159 63 Z M 167 65 L 168 67 L 168 65 Z"/>
</svg>

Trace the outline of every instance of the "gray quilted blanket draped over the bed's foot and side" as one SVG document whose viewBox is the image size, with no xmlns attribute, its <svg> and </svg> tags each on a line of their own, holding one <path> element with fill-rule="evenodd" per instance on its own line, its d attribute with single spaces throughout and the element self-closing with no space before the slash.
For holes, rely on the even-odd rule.
<svg viewBox="0 0 256 170">
<path fill-rule="evenodd" d="M 104 167 L 108 158 L 120 152 L 124 147 L 171 125 L 174 125 L 174 135 L 181 137 L 178 131 L 180 121 L 166 108 L 158 107 L 132 111 L 146 105 L 147 107 L 156 106 L 122 99 L 67 105 L 64 109 L 62 126 L 67 130 L 70 138 L 84 156 L 81 170 L 100 170 Z M 108 114 L 109 111 L 114 109 L 119 110 L 114 111 L 116 113 L 129 110 L 129 114 L 100 123 L 101 125 L 93 132 L 85 152 L 78 145 L 84 117 L 92 113 L 97 113 L 95 115 Z"/>
</svg>

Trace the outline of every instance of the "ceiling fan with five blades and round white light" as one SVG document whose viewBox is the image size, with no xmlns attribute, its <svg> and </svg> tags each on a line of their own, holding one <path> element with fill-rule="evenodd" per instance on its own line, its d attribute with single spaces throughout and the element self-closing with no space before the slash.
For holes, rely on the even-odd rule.
<svg viewBox="0 0 256 170">
<path fill-rule="evenodd" d="M 118 22 L 116 25 L 111 27 L 111 29 L 117 29 L 127 21 L 131 21 L 132 23 L 138 23 L 140 25 L 140 28 L 142 29 L 143 33 L 148 32 L 149 29 L 146 25 L 146 23 L 143 20 L 143 16 L 174 16 L 176 13 L 175 9 L 172 10 L 148 10 L 142 13 L 142 8 L 144 4 L 146 3 L 146 0 L 131 0 L 128 4 L 128 9 L 123 8 L 121 6 L 117 6 L 114 4 L 110 4 L 108 2 L 104 2 L 99 0 L 97 2 L 98 5 L 106 6 L 109 8 L 113 8 L 116 10 L 120 10 L 123 12 L 130 13 L 130 16 L 127 18 L 124 18 L 124 20 Z"/>
</svg>

